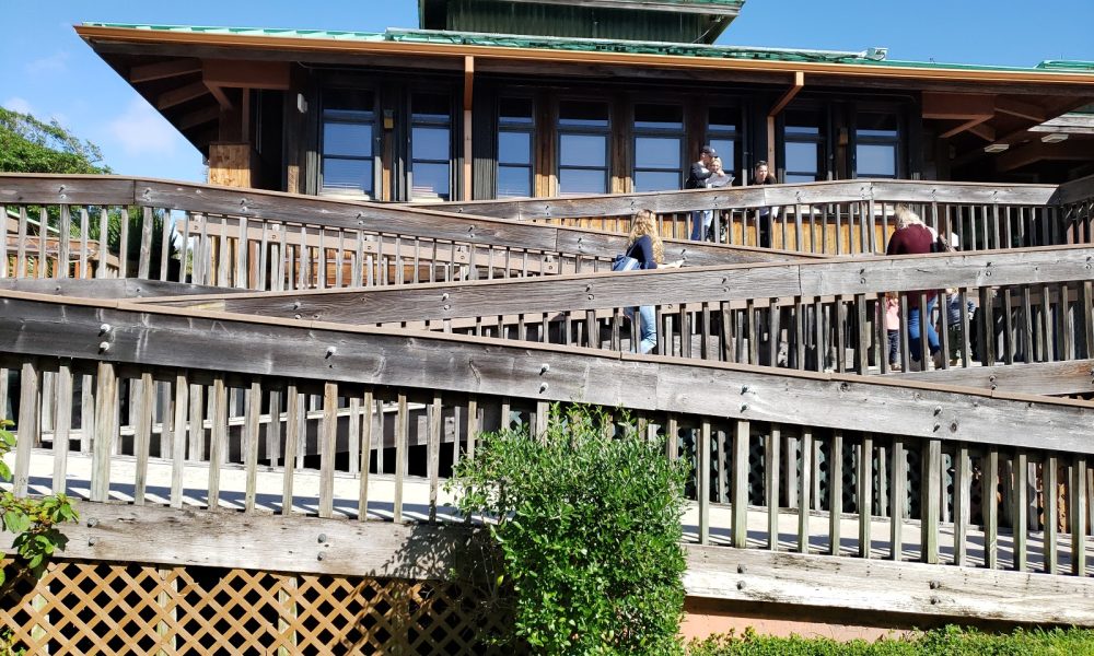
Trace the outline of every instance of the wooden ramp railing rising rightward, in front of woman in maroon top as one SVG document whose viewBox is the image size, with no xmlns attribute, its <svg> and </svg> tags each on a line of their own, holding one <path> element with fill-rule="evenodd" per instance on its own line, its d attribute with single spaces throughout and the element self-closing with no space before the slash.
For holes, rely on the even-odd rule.
<svg viewBox="0 0 1094 656">
<path fill-rule="evenodd" d="M 886 293 L 899 303 L 905 372 L 913 365 L 903 339 L 910 308 L 934 295 L 957 312 L 956 321 L 948 307 L 917 313 L 919 352 L 930 352 L 929 323 L 938 327 L 946 354 L 942 368 L 955 367 L 935 379 L 1089 395 L 1094 393 L 1092 285 L 1094 248 L 1051 246 L 150 302 L 614 351 L 631 351 L 639 341 L 639 321 L 628 319 L 627 311 L 652 306 L 661 355 L 886 374 L 888 336 L 881 320 Z M 1000 368 L 1015 363 L 1043 366 Z"/>
</svg>

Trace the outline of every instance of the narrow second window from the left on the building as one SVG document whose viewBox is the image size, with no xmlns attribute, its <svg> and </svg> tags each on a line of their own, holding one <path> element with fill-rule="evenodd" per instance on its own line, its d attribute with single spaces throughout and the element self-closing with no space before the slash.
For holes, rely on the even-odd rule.
<svg viewBox="0 0 1094 656">
<path fill-rule="evenodd" d="M 449 200 L 452 130 L 449 96 L 410 96 L 410 199 Z"/>
</svg>

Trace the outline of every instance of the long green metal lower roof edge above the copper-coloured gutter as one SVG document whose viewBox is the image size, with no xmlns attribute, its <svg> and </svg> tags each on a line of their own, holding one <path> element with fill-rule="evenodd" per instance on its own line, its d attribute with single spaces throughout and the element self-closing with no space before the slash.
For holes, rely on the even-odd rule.
<svg viewBox="0 0 1094 656">
<path fill-rule="evenodd" d="M 957 69 L 974 71 L 1036 72 L 1094 72 L 1094 62 L 1048 60 L 1036 67 L 982 66 L 909 61 L 888 59 L 884 48 L 870 48 L 858 52 L 838 50 L 811 50 L 795 48 L 766 48 L 747 46 L 688 45 L 662 42 L 615 40 L 600 38 L 570 38 L 554 36 L 522 36 L 474 32 L 446 32 L 434 30 L 397 30 L 385 32 L 349 32 L 330 30 L 289 30 L 256 27 L 203 27 L 189 25 L 147 25 L 127 23 L 84 23 L 89 27 L 116 27 L 150 32 L 224 34 L 271 38 L 314 38 L 346 42 L 391 42 L 423 44 L 456 44 L 492 46 L 501 48 L 570 50 L 581 52 L 621 52 L 640 55 L 673 55 L 709 59 L 745 59 L 781 62 L 828 62 L 871 67 L 906 67 L 921 69 Z"/>
</svg>

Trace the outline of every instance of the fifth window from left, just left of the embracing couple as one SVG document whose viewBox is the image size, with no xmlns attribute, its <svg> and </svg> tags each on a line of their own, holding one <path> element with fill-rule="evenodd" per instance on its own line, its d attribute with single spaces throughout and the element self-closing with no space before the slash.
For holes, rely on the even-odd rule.
<svg viewBox="0 0 1094 656">
<path fill-rule="evenodd" d="M 683 108 L 635 105 L 635 190 L 679 189 L 683 147 Z"/>
</svg>

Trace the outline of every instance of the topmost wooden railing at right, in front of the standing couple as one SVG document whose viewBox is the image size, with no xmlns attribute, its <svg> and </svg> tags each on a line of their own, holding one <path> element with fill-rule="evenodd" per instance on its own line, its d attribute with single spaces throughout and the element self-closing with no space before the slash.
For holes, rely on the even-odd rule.
<svg viewBox="0 0 1094 656">
<path fill-rule="evenodd" d="M 445 203 L 445 211 L 626 232 L 638 209 L 662 234 L 686 239 L 710 212 L 711 239 L 825 255 L 882 254 L 898 204 L 909 206 L 962 250 L 1091 243 L 1090 178 L 1068 185 L 843 180 L 612 196 Z M 1064 199 L 1071 199 L 1064 202 Z"/>
</svg>

